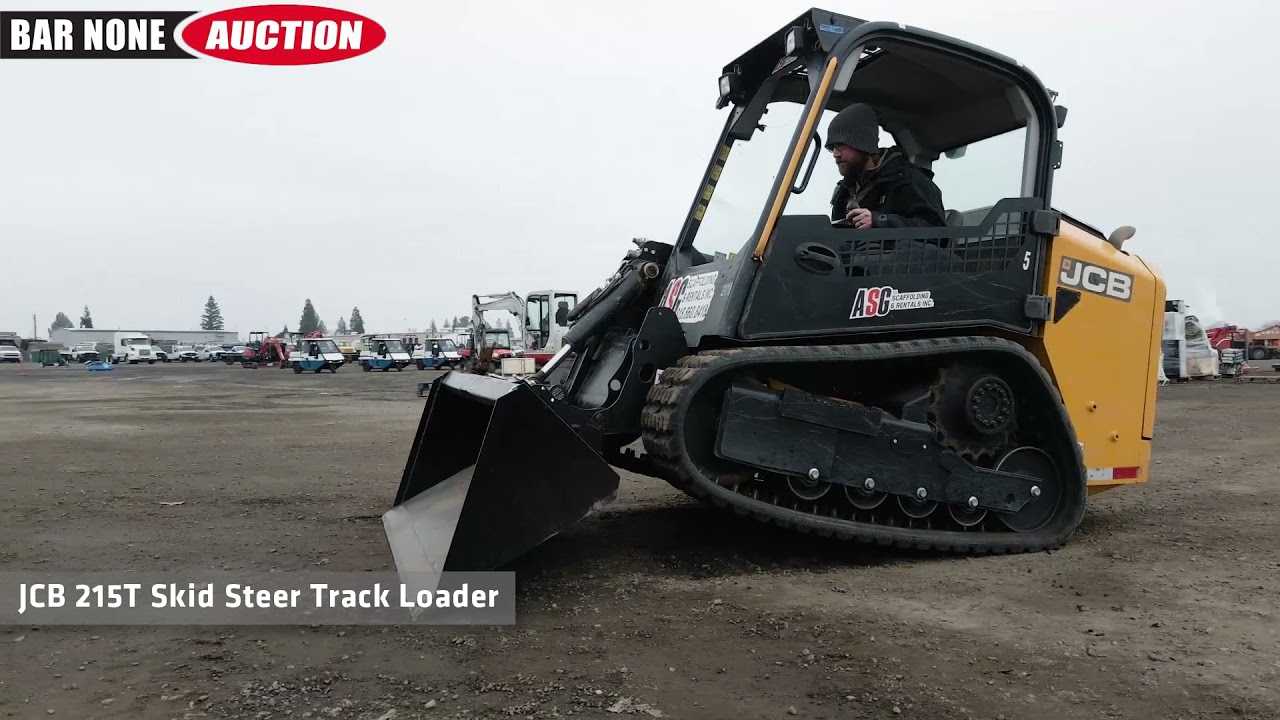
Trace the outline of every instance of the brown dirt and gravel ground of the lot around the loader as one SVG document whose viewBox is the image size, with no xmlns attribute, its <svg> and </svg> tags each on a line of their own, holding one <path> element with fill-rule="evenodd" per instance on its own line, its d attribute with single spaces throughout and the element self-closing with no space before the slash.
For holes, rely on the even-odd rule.
<svg viewBox="0 0 1280 720">
<path fill-rule="evenodd" d="M 390 570 L 429 375 L 3 366 L 0 571 Z M 1280 717 L 1280 384 L 1157 423 L 1056 552 L 827 548 L 626 475 L 516 565 L 515 626 L 0 628 L 0 714 Z"/>
</svg>

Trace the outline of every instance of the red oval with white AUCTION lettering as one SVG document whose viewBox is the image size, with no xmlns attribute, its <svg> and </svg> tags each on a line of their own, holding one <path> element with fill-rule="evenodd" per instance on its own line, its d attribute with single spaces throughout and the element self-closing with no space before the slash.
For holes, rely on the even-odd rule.
<svg viewBox="0 0 1280 720">
<path fill-rule="evenodd" d="M 253 65 L 315 65 L 364 55 L 387 40 L 376 22 L 319 5 L 250 5 L 191 20 L 191 50 Z"/>
</svg>

